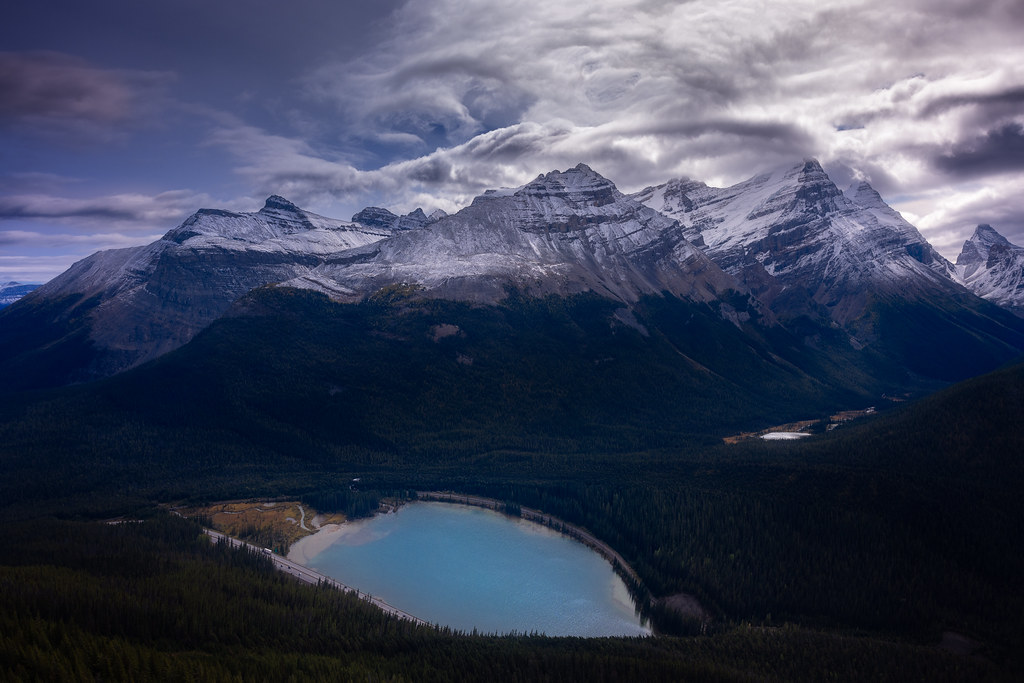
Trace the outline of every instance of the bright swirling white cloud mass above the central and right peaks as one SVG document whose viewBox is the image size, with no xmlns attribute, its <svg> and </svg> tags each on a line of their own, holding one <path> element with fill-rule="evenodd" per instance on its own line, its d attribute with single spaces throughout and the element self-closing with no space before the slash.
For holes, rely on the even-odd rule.
<svg viewBox="0 0 1024 683">
<path fill-rule="evenodd" d="M 291 175 L 267 161 L 296 188 L 312 169 L 314 184 L 409 208 L 579 161 L 631 189 L 676 175 L 729 184 L 816 156 L 884 196 L 916 198 L 932 234 L 943 224 L 958 238 L 937 198 L 1007 171 L 978 157 L 1021 122 L 1022 27 L 1014 0 L 414 0 L 376 49 L 303 85 L 337 108 L 341 134 L 407 153 L 415 136 L 421 152 L 356 170 L 307 148 Z M 996 206 L 1010 199 L 969 207 L 1010 218 Z"/>
</svg>

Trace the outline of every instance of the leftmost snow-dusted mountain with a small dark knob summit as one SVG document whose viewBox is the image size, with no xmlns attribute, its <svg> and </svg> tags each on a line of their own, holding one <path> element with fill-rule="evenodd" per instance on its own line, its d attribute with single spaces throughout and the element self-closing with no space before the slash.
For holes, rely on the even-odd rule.
<svg viewBox="0 0 1024 683">
<path fill-rule="evenodd" d="M 35 296 L 100 302 L 89 314 L 89 338 L 110 356 L 90 372 L 105 374 L 187 342 L 254 288 L 292 280 L 391 233 L 271 196 L 256 212 L 200 209 L 150 245 L 96 252 Z"/>
</svg>

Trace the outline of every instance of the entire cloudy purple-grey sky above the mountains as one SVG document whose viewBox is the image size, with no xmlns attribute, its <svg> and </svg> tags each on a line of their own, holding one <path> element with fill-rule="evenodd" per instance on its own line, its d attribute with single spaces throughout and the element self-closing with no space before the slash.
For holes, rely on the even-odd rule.
<svg viewBox="0 0 1024 683">
<path fill-rule="evenodd" d="M 201 207 L 454 211 L 815 157 L 947 258 L 1024 245 L 1021 0 L 34 0 L 0 23 L 0 282 Z"/>
</svg>

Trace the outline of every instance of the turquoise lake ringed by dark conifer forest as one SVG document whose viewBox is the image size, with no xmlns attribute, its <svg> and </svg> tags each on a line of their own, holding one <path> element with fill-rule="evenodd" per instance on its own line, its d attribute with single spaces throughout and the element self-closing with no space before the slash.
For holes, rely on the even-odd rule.
<svg viewBox="0 0 1024 683">
<path fill-rule="evenodd" d="M 300 544 L 308 555 L 300 561 L 311 568 L 433 624 L 551 636 L 649 633 L 604 558 L 492 510 L 412 503 Z"/>
</svg>

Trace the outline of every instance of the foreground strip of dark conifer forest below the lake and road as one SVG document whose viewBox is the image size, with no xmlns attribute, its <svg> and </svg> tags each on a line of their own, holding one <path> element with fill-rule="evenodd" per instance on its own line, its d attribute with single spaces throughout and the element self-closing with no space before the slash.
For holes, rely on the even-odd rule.
<svg viewBox="0 0 1024 683">
<path fill-rule="evenodd" d="M 293 582 L 167 514 L 5 525 L 9 681 L 990 680 L 980 658 L 853 634 L 738 625 L 714 637 L 478 636 Z"/>
</svg>

